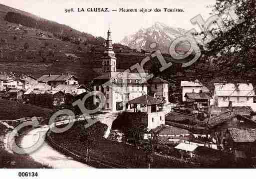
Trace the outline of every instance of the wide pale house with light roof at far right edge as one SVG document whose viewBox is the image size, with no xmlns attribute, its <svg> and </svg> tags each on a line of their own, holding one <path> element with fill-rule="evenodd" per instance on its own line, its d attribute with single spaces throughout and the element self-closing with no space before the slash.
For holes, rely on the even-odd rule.
<svg viewBox="0 0 256 179">
<path fill-rule="evenodd" d="M 214 106 L 228 107 L 254 105 L 255 91 L 252 83 L 215 83 L 214 84 Z"/>
</svg>

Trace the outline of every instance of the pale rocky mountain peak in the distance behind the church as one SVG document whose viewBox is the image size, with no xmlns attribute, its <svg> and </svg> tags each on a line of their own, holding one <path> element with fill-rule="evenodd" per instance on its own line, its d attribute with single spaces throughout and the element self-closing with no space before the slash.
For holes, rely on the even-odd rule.
<svg viewBox="0 0 256 179">
<path fill-rule="evenodd" d="M 140 28 L 135 34 L 125 36 L 120 43 L 130 48 L 152 51 L 149 45 L 152 42 L 156 42 L 158 49 L 163 53 L 168 53 L 171 42 L 186 32 L 186 29 L 171 27 L 164 23 L 156 22 L 149 28 Z"/>
</svg>

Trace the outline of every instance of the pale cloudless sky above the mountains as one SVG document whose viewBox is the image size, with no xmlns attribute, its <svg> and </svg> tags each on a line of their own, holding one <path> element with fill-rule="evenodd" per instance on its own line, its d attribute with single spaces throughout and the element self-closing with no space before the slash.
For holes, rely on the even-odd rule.
<svg viewBox="0 0 256 179">
<path fill-rule="evenodd" d="M 124 36 L 150 27 L 157 21 L 187 30 L 198 29 L 190 19 L 198 14 L 205 20 L 210 17 L 211 8 L 207 6 L 213 5 L 215 0 L 0 0 L 0 3 L 104 38 L 110 26 L 113 42 L 119 42 Z M 107 7 L 110 12 L 88 12 L 90 7 Z M 68 8 L 75 9 L 75 12 L 66 13 Z M 86 11 L 77 12 L 77 8 Z M 119 8 L 152 8 L 153 12 L 119 12 Z M 162 11 L 154 12 L 155 8 Z M 180 8 L 184 12 L 164 12 L 163 8 Z"/>
</svg>

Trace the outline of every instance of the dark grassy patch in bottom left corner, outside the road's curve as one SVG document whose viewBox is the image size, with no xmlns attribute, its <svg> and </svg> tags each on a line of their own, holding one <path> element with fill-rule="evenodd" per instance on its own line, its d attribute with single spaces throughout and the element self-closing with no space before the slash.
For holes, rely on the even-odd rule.
<svg viewBox="0 0 256 179">
<path fill-rule="evenodd" d="M 47 165 L 42 165 L 35 162 L 28 155 L 20 155 L 15 153 L 9 153 L 5 150 L 3 144 L 3 136 L 8 132 L 7 128 L 0 124 L 0 168 L 7 169 L 41 169 L 41 168 L 51 168 Z"/>
</svg>

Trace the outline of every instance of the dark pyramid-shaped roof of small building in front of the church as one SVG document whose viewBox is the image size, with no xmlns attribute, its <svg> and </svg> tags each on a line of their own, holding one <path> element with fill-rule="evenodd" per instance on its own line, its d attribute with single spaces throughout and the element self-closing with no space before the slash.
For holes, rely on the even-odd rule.
<svg viewBox="0 0 256 179">
<path fill-rule="evenodd" d="M 128 101 L 130 104 L 146 104 L 146 105 L 154 105 L 154 104 L 163 104 L 164 101 L 157 99 L 155 97 L 149 95 L 142 95 L 138 98 L 132 99 Z"/>
</svg>

